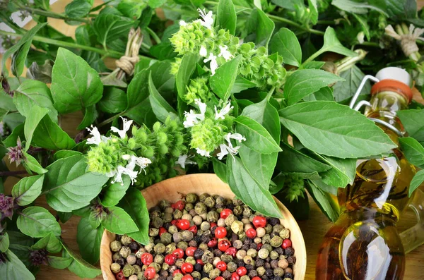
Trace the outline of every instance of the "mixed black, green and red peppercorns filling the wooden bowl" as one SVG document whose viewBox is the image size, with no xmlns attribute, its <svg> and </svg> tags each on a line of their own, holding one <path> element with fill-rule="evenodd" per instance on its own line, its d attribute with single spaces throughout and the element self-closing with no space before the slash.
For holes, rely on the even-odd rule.
<svg viewBox="0 0 424 280">
<path fill-rule="evenodd" d="M 126 235 L 110 243 L 116 279 L 293 279 L 290 231 L 237 198 L 189 193 L 161 201 L 150 218 L 148 245 Z"/>
</svg>

